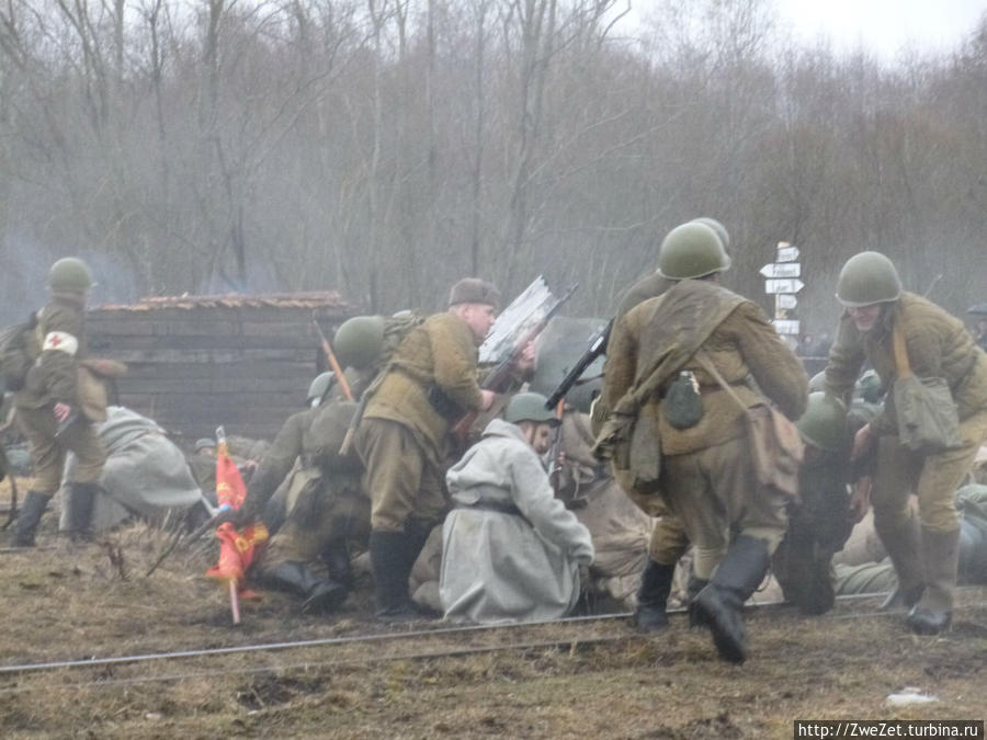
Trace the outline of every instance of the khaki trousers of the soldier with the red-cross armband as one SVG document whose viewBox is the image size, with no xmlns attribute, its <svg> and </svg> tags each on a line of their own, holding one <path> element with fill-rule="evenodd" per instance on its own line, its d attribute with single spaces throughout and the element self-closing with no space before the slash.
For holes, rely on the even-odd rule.
<svg viewBox="0 0 987 740">
<path fill-rule="evenodd" d="M 79 419 L 56 439 L 58 422 L 50 406 L 41 409 L 18 408 L 16 419 L 31 451 L 35 491 L 42 496 L 53 496 L 58 490 L 61 486 L 65 455 L 69 449 L 76 454 L 78 465 L 68 482 L 99 481 L 106 462 L 106 451 L 90 422 Z"/>
</svg>

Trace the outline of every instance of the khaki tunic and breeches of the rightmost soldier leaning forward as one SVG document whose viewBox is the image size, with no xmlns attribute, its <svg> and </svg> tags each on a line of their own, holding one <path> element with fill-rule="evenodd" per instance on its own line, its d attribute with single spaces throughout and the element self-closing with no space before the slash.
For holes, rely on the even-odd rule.
<svg viewBox="0 0 987 740">
<path fill-rule="evenodd" d="M 871 422 L 877 435 L 877 471 L 871 492 L 875 524 L 883 530 L 906 526 L 908 496 L 917 493 L 922 526 L 952 532 L 958 527 L 953 492 L 973 466 L 987 439 L 987 355 L 974 344 L 963 322 L 912 293 L 903 293 L 878 325 L 861 334 L 849 314 L 840 319 L 826 367 L 826 392 L 848 398 L 864 362 L 870 362 L 885 388 L 894 383 L 892 327 L 901 321 L 911 371 L 917 377 L 946 380 L 960 415 L 956 449 L 917 455 L 898 441 L 894 400 Z"/>
</svg>

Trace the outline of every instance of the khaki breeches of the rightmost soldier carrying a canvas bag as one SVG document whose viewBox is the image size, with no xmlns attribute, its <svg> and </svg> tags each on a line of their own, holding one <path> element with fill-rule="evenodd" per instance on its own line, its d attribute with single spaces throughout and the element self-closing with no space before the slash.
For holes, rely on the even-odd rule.
<svg viewBox="0 0 987 740">
<path fill-rule="evenodd" d="M 922 527 L 953 532 L 960 526 L 955 493 L 987 439 L 987 411 L 960 423 L 963 444 L 956 449 L 921 456 L 901 446 L 897 436 L 877 439 L 877 471 L 871 491 L 874 524 L 884 531 L 907 525 L 908 496 L 916 493 Z"/>
</svg>

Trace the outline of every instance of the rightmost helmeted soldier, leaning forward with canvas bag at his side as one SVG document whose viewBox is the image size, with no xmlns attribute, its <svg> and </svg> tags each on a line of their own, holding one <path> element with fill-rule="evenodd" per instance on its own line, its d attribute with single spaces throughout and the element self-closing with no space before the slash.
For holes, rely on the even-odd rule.
<svg viewBox="0 0 987 740">
<path fill-rule="evenodd" d="M 847 261 L 837 297 L 846 310 L 826 367 L 827 394 L 846 400 L 864 362 L 889 387 L 896 376 L 892 338 L 898 326 L 914 374 L 944 378 L 956 403 L 961 444 L 952 449 L 919 455 L 905 448 L 888 396 L 884 412 L 856 433 L 852 451 L 858 458 L 876 445 L 874 526 L 895 563 L 903 600 L 912 607 L 907 625 L 920 635 L 935 635 L 952 619 L 960 538 L 953 491 L 987 436 L 987 355 L 962 321 L 903 291 L 894 263 L 878 252 Z M 907 505 L 912 491 L 919 521 Z"/>
</svg>

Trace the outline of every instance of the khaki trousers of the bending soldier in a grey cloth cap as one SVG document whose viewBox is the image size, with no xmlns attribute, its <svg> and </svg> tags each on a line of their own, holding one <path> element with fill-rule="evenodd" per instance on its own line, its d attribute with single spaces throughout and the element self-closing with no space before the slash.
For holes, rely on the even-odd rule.
<svg viewBox="0 0 987 740">
<path fill-rule="evenodd" d="M 444 473 L 410 429 L 386 419 L 364 419 L 355 442 L 366 470 L 374 532 L 405 532 L 411 520 L 442 520 L 449 508 Z"/>
</svg>

